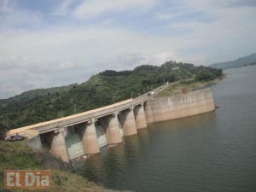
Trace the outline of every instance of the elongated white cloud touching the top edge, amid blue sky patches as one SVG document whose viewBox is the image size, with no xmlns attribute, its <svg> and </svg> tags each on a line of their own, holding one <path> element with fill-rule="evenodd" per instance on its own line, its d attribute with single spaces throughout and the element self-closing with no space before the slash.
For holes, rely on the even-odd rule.
<svg viewBox="0 0 256 192">
<path fill-rule="evenodd" d="M 73 12 L 79 19 L 89 19 L 108 13 L 119 13 L 129 9 L 149 9 L 158 0 L 88 0 Z"/>
</svg>

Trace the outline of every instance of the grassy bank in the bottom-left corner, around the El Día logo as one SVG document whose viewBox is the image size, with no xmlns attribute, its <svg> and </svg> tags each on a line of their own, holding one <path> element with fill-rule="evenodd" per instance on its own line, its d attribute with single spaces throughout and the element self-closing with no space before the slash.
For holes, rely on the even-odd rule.
<svg viewBox="0 0 256 192">
<path fill-rule="evenodd" d="M 44 191 L 104 191 L 101 186 L 72 173 L 72 167 L 61 162 L 46 151 L 34 151 L 24 142 L 9 143 L 0 141 L 0 191 L 3 186 L 3 170 L 49 169 L 52 170 L 52 188 Z M 15 189 L 13 191 L 31 191 Z M 40 190 L 42 191 L 42 190 Z"/>
</svg>

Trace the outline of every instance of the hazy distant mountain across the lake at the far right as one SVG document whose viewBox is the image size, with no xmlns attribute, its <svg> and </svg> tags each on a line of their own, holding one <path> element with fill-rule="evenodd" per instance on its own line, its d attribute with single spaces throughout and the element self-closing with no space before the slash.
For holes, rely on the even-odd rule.
<svg viewBox="0 0 256 192">
<path fill-rule="evenodd" d="M 228 69 L 228 68 L 236 68 L 236 67 L 244 67 L 244 66 L 252 66 L 252 65 L 256 65 L 256 53 L 238 58 L 234 61 L 214 63 L 212 65 L 209 65 L 209 67 Z"/>
</svg>

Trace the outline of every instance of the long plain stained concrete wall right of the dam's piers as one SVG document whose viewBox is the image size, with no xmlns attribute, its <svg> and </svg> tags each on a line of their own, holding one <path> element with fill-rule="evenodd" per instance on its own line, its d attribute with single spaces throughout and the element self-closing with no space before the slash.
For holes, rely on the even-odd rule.
<svg viewBox="0 0 256 192">
<path fill-rule="evenodd" d="M 155 97 L 147 102 L 147 123 L 179 119 L 214 110 L 211 89 L 195 90 L 175 96 Z"/>
</svg>

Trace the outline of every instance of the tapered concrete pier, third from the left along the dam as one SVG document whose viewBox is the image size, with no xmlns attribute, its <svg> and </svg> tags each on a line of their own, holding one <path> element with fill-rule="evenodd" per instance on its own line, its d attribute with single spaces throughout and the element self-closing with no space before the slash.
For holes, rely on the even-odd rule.
<svg viewBox="0 0 256 192">
<path fill-rule="evenodd" d="M 118 113 L 113 113 L 108 116 L 106 137 L 108 144 L 122 143 L 122 137 L 120 135 Z"/>
</svg>

